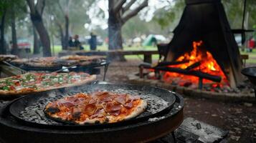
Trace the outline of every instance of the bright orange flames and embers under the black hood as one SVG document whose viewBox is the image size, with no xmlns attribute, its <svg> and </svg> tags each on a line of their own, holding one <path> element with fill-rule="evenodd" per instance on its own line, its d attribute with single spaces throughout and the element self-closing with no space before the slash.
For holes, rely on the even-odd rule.
<svg viewBox="0 0 256 143">
<path fill-rule="evenodd" d="M 196 66 L 192 71 L 202 71 L 207 74 L 212 74 L 214 76 L 222 77 L 222 82 L 219 84 L 214 83 L 210 80 L 204 79 L 203 84 L 212 84 L 212 86 L 222 87 L 223 85 L 228 85 L 227 77 L 224 72 L 220 68 L 217 61 L 213 58 L 212 54 L 209 51 L 199 50 L 199 46 L 202 46 L 202 41 L 194 41 L 193 42 L 193 50 L 191 52 L 187 52 L 182 56 L 179 56 L 176 61 L 188 61 L 184 64 L 171 65 L 169 67 L 176 67 L 180 69 L 186 69 L 188 66 L 195 64 L 196 62 L 200 62 L 199 66 Z M 178 74 L 174 72 L 165 72 L 163 75 L 163 80 L 165 82 L 175 82 L 181 86 L 190 85 L 189 83 L 198 84 L 199 77 L 194 77 L 190 75 Z"/>
</svg>

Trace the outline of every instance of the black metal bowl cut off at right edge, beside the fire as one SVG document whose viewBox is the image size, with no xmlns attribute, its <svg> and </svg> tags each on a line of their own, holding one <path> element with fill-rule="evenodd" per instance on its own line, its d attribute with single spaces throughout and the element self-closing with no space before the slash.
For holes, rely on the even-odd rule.
<svg viewBox="0 0 256 143">
<path fill-rule="evenodd" d="M 252 86 L 255 89 L 255 98 L 256 98 L 256 66 L 242 69 L 241 73 L 244 74 L 252 83 Z"/>
</svg>

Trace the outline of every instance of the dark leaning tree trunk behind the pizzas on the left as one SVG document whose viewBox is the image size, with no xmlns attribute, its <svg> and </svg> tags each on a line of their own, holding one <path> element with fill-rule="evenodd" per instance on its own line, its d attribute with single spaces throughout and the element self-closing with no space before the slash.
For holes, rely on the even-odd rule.
<svg viewBox="0 0 256 143">
<path fill-rule="evenodd" d="M 35 14 L 30 14 L 30 16 L 32 19 L 32 23 L 34 24 L 34 27 L 37 29 L 37 33 L 39 34 L 42 43 L 43 56 L 52 56 L 49 34 L 47 32 L 47 29 L 45 29 L 44 27 L 42 16 L 40 16 L 40 14 L 38 14 L 37 11 L 35 12 Z"/>
</svg>

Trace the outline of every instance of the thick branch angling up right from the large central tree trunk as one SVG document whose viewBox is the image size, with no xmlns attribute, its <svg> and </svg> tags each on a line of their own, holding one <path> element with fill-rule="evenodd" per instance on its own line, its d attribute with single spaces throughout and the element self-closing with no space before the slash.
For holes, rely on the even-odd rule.
<svg viewBox="0 0 256 143">
<path fill-rule="evenodd" d="M 133 16 L 136 16 L 138 12 L 141 11 L 141 9 L 143 9 L 146 6 L 148 6 L 148 0 L 144 0 L 143 3 L 141 3 L 141 5 L 139 5 L 136 9 L 133 9 L 123 14 L 122 16 L 123 24 L 125 23 L 125 21 L 128 21 L 128 19 L 131 19 Z"/>
</svg>

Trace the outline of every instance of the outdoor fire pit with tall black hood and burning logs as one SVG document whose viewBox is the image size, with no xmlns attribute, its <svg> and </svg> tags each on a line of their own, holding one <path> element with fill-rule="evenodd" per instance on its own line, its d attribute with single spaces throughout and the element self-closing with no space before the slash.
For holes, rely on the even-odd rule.
<svg viewBox="0 0 256 143">
<path fill-rule="evenodd" d="M 128 75 L 130 82 L 158 85 L 199 97 L 245 97 L 250 101 L 254 96 L 252 87 L 240 72 L 240 51 L 222 1 L 185 3 L 174 37 L 169 44 L 158 44 L 158 62 L 141 64 L 139 75 Z"/>
</svg>

